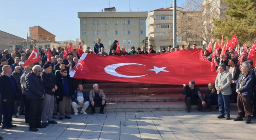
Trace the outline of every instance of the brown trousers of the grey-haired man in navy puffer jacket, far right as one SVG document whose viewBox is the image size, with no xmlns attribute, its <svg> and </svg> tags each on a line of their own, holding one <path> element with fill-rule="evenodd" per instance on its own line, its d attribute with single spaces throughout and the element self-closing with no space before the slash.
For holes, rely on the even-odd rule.
<svg viewBox="0 0 256 140">
<path fill-rule="evenodd" d="M 246 117 L 251 118 L 252 115 L 252 106 L 251 106 L 251 96 L 242 96 L 238 94 L 237 97 L 237 117 L 241 117 L 246 115 Z"/>
</svg>

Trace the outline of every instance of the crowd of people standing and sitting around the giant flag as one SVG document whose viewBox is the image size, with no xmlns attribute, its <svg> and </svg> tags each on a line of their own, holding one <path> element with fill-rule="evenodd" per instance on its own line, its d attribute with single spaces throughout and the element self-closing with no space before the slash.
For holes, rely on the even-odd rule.
<svg viewBox="0 0 256 140">
<path fill-rule="evenodd" d="M 98 39 L 94 47 L 88 47 L 85 53 L 99 56 L 125 56 L 190 50 L 189 45 L 186 48 L 182 45 L 176 46 L 175 49 L 168 46 L 167 50 L 162 48 L 156 52 L 153 46 L 149 45 L 147 50 L 145 46 L 137 50 L 133 46 L 131 52 L 126 52 L 125 48 L 119 52 L 117 46 L 118 41 L 115 40 L 110 47 L 110 52 L 107 53 Z M 191 49 L 197 49 L 196 44 Z M 77 115 L 78 108 L 82 108 L 80 113 L 87 114 L 85 110 L 91 106 L 91 114 L 94 114 L 94 107 L 100 106 L 100 113 L 104 114 L 106 97 L 103 90 L 99 90 L 98 84 L 93 85 L 93 90 L 88 95 L 83 90 L 82 80 L 71 79 L 68 74 L 78 63 L 79 56 L 76 49 L 67 54 L 67 59 L 63 59 L 64 48 L 53 48 L 50 51 L 53 55 L 51 62 L 47 61 L 47 54 L 44 50 L 38 48 L 40 62 L 24 68 L 22 65 L 31 54 L 29 49 L 20 52 L 18 48 L 15 48 L 11 54 L 8 50 L 0 53 L 0 116 L 3 116 L 0 117 L 3 119 L 0 122 L 3 124 L 3 129 L 16 127 L 11 122 L 12 117 L 18 117 L 17 114 L 25 115 L 30 131 L 38 131 L 37 128 L 45 128 L 48 124 L 57 124 L 54 121 L 54 115 L 57 113 L 59 113 L 60 120 L 70 119 L 71 108 Z M 234 50 L 227 50 L 224 55 L 220 55 L 221 49 L 214 51 L 216 51 L 214 57 L 218 62 L 216 67 L 219 71 L 216 82 L 208 85 L 205 97 L 195 86 L 194 81 L 190 81 L 188 86 L 184 84 L 182 93 L 186 94 L 187 112 L 190 112 L 191 104 L 198 104 L 198 109 L 203 111 L 205 108 L 206 111 L 210 111 L 212 105 L 218 105 L 216 108 L 220 111 L 218 118 L 229 119 L 230 102 L 233 102 L 238 106 L 238 116 L 235 120 L 242 120 L 242 117 L 246 116 L 246 123 L 250 123 L 250 119 L 256 116 L 256 106 L 253 106 L 256 104 L 253 61 L 247 60 L 247 54 L 243 53 L 243 56 L 240 56 L 242 62 L 238 64 L 239 58 L 234 54 Z M 208 50 L 204 51 L 204 57 L 209 61 L 212 60 Z M 57 106 L 54 104 L 54 99 L 57 101 Z"/>
</svg>

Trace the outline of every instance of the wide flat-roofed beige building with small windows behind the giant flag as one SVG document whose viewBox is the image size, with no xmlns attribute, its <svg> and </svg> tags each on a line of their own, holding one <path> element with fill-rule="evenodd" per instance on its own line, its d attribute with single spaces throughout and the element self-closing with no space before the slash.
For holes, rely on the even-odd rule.
<svg viewBox="0 0 256 140">
<path fill-rule="evenodd" d="M 97 38 L 101 39 L 105 52 L 109 52 L 114 40 L 119 40 L 120 48 L 123 45 L 126 51 L 132 46 L 145 46 L 148 12 L 112 11 L 114 12 L 78 12 L 80 39 L 84 50 L 92 48 Z"/>
</svg>

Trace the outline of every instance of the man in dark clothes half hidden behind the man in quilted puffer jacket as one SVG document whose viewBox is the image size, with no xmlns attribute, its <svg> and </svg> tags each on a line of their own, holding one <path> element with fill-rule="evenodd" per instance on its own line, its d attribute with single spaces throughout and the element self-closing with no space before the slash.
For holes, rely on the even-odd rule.
<svg viewBox="0 0 256 140">
<path fill-rule="evenodd" d="M 24 68 L 24 73 L 20 77 L 20 85 L 22 89 L 22 97 L 20 98 L 20 110 L 19 110 L 19 115 L 25 115 L 25 122 L 28 123 L 28 102 L 26 102 L 26 75 L 30 73 L 32 70 L 31 66 L 25 66 Z"/>
</svg>

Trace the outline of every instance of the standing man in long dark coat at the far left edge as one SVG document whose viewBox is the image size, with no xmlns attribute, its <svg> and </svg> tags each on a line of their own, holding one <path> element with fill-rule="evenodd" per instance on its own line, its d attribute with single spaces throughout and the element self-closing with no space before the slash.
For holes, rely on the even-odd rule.
<svg viewBox="0 0 256 140">
<path fill-rule="evenodd" d="M 0 75 L 0 94 L 2 96 L 3 107 L 3 125 L 2 129 L 12 129 L 16 125 L 12 124 L 12 115 L 14 112 L 14 101 L 18 91 L 16 82 L 11 75 L 12 68 L 10 65 L 3 66 L 3 72 Z"/>
</svg>

